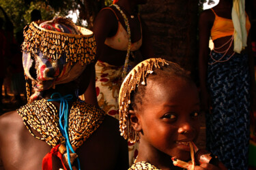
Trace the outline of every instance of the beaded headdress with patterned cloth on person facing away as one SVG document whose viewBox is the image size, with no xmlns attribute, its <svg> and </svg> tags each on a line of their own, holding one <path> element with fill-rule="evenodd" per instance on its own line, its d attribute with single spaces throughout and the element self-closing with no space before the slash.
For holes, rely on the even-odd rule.
<svg viewBox="0 0 256 170">
<path fill-rule="evenodd" d="M 30 96 L 27 84 L 28 101 L 35 100 L 42 90 L 75 80 L 86 65 L 94 62 L 96 41 L 93 32 L 76 26 L 68 18 L 31 22 L 25 28 L 24 38 L 25 77 L 32 81 L 35 91 Z"/>
</svg>

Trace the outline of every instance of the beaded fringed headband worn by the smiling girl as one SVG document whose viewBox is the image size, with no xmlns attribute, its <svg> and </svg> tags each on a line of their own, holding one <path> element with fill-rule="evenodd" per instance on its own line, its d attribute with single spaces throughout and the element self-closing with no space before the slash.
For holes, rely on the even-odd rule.
<svg viewBox="0 0 256 170">
<path fill-rule="evenodd" d="M 130 143 L 139 141 L 139 133 L 132 129 L 128 119 L 131 92 L 139 86 L 140 82 L 142 85 L 146 85 L 145 78 L 153 73 L 154 69 L 162 68 L 171 63 L 162 58 L 150 58 L 142 61 L 128 73 L 122 83 L 119 92 L 119 130 L 124 139 L 128 139 Z"/>
</svg>

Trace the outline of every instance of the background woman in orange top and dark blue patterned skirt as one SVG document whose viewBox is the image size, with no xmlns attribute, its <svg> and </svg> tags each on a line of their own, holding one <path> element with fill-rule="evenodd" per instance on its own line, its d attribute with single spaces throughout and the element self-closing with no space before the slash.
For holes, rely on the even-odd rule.
<svg viewBox="0 0 256 170">
<path fill-rule="evenodd" d="M 206 146 L 229 169 L 248 169 L 254 75 L 253 58 L 248 55 L 251 24 L 244 8 L 244 0 L 221 0 L 199 18 L 199 78 Z M 209 37 L 214 42 L 212 51 L 208 48 Z"/>
</svg>

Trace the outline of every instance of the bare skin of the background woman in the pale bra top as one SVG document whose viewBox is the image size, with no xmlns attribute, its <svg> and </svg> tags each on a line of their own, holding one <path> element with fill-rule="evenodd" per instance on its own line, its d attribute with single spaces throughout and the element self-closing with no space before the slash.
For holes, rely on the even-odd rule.
<svg viewBox="0 0 256 170">
<path fill-rule="evenodd" d="M 147 25 L 143 21 L 143 18 L 137 16 L 137 6 L 147 3 L 147 0 L 119 0 L 116 4 L 119 5 L 120 9 L 128 16 L 128 23 L 130 25 L 130 38 L 131 42 L 137 42 L 142 38 L 142 44 L 138 52 L 141 53 L 143 59 L 149 56 L 154 56 L 152 43 L 150 39 L 150 32 L 147 30 Z M 111 7 L 122 26 L 126 29 L 124 17 L 115 8 Z M 134 18 L 130 18 L 133 15 Z M 109 63 L 110 65 L 121 66 L 124 65 L 126 60 L 126 50 L 116 50 L 104 44 L 106 38 L 113 37 L 116 35 L 118 29 L 118 21 L 115 14 L 111 10 L 101 10 L 96 19 L 94 20 L 94 35 L 97 44 L 96 58 L 100 61 Z"/>
</svg>

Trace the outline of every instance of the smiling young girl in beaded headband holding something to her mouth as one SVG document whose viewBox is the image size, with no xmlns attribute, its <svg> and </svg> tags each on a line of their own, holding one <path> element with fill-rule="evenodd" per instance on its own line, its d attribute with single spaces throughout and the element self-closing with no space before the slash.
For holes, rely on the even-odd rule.
<svg viewBox="0 0 256 170">
<path fill-rule="evenodd" d="M 186 163 L 194 158 L 190 146 L 199 134 L 199 110 L 197 87 L 179 65 L 150 58 L 134 67 L 119 92 L 121 135 L 139 141 L 130 169 L 219 169 Z"/>
</svg>

